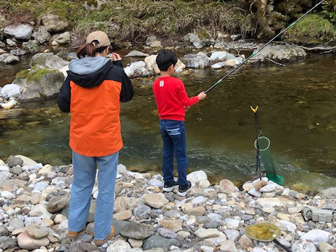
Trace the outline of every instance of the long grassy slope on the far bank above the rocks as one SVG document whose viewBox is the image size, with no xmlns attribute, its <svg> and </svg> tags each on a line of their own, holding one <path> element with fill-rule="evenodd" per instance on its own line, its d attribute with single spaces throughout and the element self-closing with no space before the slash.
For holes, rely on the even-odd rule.
<svg viewBox="0 0 336 252">
<path fill-rule="evenodd" d="M 0 0 L 1 1 L 1 0 Z M 92 30 L 102 29 L 111 38 L 131 40 L 144 34 L 159 34 L 172 37 L 188 32 L 215 31 L 239 32 L 243 36 L 253 35 L 256 20 L 248 12 L 232 8 L 238 3 L 211 1 L 152 1 L 115 0 L 102 6 L 89 0 L 87 5 L 100 10 L 87 10 L 79 0 L 7 0 L 10 10 L 17 15 L 38 20 L 42 15 L 52 13 L 70 21 L 78 35 L 86 35 Z"/>
</svg>

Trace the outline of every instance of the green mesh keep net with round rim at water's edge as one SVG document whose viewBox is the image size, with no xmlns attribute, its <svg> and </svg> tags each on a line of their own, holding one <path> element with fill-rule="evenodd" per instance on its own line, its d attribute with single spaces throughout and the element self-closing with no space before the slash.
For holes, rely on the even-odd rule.
<svg viewBox="0 0 336 252">
<path fill-rule="evenodd" d="M 260 158 L 262 163 L 264 164 L 265 173 L 267 178 L 274 183 L 279 185 L 283 185 L 285 183 L 285 179 L 282 176 L 276 175 L 275 166 L 272 158 L 271 152 L 271 141 L 265 136 L 258 137 Z M 257 140 L 254 141 L 254 147 L 257 149 Z"/>
</svg>

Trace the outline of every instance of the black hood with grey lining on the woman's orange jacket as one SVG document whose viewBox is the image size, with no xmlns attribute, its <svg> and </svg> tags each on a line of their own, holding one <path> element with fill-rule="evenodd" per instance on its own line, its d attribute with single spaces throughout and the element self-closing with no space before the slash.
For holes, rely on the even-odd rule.
<svg viewBox="0 0 336 252">
<path fill-rule="evenodd" d="M 102 84 L 113 63 L 106 57 L 73 59 L 69 64 L 69 80 L 80 87 L 96 87 Z"/>
</svg>

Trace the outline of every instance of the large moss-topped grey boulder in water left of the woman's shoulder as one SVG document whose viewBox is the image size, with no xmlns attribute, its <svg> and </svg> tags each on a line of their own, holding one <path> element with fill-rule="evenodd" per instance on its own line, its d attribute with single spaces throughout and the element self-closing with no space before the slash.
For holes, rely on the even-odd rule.
<svg viewBox="0 0 336 252">
<path fill-rule="evenodd" d="M 16 77 L 13 84 L 21 88 L 19 99 L 22 101 L 55 97 L 64 82 L 63 73 L 38 67 L 20 71 Z"/>
</svg>

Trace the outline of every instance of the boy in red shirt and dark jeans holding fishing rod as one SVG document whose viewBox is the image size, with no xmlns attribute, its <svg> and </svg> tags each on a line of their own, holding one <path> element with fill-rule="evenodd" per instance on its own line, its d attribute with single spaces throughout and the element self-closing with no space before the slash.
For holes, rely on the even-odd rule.
<svg viewBox="0 0 336 252">
<path fill-rule="evenodd" d="M 156 58 L 161 71 L 160 78 L 153 83 L 153 91 L 160 116 L 160 132 L 163 140 L 162 172 L 164 192 L 172 192 L 179 187 L 180 196 L 186 196 L 191 189 L 187 181 L 187 145 L 184 116 L 190 106 L 207 97 L 201 92 L 196 97 L 188 98 L 184 84 L 179 78 L 173 78 L 177 57 L 170 50 L 162 50 Z M 176 155 L 179 181 L 174 180 L 173 159 Z"/>
</svg>

